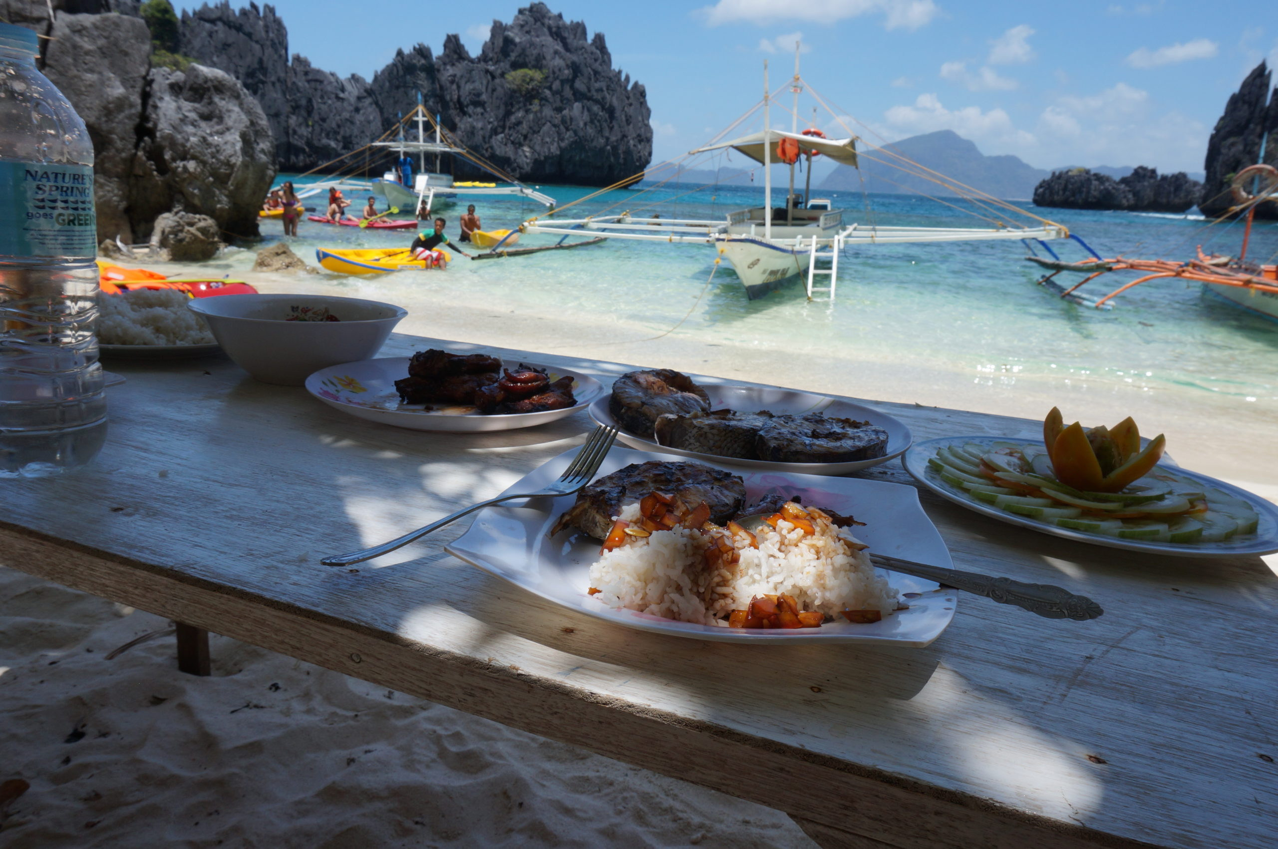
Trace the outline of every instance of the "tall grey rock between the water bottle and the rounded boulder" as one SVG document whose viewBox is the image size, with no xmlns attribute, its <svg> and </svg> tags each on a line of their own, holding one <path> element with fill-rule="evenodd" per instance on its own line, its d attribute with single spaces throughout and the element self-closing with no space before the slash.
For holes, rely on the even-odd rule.
<svg viewBox="0 0 1278 849">
<path fill-rule="evenodd" d="M 45 74 L 75 106 L 93 139 L 100 240 L 133 240 L 129 178 L 150 52 L 147 24 L 119 14 L 59 14 L 45 52 Z"/>
</svg>

